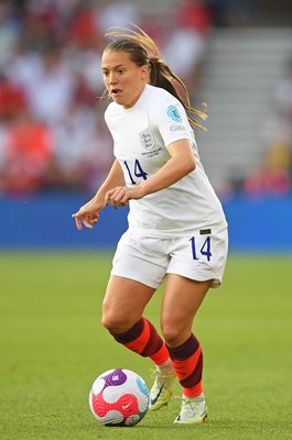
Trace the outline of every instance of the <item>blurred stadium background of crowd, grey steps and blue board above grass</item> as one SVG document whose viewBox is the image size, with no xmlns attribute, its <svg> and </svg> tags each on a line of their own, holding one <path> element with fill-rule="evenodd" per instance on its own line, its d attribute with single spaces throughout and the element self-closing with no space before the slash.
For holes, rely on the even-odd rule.
<svg viewBox="0 0 292 440">
<path fill-rule="evenodd" d="M 97 99 L 102 35 L 134 22 L 208 106 L 196 136 L 230 250 L 291 251 L 291 10 L 283 0 L 2 1 L 0 249 L 115 246 L 126 210 L 108 208 L 83 234 L 71 213 L 112 161 Z"/>
</svg>

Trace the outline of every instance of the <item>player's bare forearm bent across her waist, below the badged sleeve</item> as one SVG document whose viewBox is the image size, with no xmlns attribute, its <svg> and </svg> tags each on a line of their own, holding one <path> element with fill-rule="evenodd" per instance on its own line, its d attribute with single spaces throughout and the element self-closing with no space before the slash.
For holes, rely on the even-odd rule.
<svg viewBox="0 0 292 440">
<path fill-rule="evenodd" d="M 167 151 L 170 160 L 159 172 L 140 185 L 116 187 L 109 190 L 106 195 L 106 201 L 110 201 L 115 207 L 127 205 L 131 199 L 138 200 L 149 194 L 167 188 L 195 169 L 194 152 L 188 139 L 172 142 L 167 145 Z"/>
</svg>

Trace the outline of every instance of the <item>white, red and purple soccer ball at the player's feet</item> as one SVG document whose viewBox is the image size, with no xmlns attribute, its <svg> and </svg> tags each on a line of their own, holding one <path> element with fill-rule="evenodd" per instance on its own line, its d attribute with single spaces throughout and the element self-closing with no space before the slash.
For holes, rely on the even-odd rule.
<svg viewBox="0 0 292 440">
<path fill-rule="evenodd" d="M 149 408 L 145 382 L 130 370 L 108 370 L 98 376 L 89 393 L 96 419 L 107 427 L 139 424 Z"/>
</svg>

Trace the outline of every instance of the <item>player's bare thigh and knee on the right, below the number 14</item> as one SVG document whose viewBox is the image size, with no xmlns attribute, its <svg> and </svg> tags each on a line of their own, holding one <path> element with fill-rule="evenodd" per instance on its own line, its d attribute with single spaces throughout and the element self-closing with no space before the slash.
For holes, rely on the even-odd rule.
<svg viewBox="0 0 292 440">
<path fill-rule="evenodd" d="M 161 309 L 161 329 L 170 346 L 177 346 L 190 337 L 193 319 L 210 285 L 212 279 L 196 282 L 176 274 L 167 275 Z"/>
</svg>

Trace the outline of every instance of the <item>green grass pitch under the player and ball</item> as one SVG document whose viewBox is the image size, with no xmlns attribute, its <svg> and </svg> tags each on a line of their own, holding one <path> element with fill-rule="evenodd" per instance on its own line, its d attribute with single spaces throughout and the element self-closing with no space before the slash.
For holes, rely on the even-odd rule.
<svg viewBox="0 0 292 440">
<path fill-rule="evenodd" d="M 99 323 L 110 255 L 0 255 L 0 439 L 292 438 L 292 257 L 230 256 L 195 320 L 209 421 L 174 426 L 180 400 L 134 428 L 104 428 L 88 407 L 105 370 L 151 362 Z M 159 322 L 161 292 L 147 309 Z M 180 394 L 175 385 L 175 394 Z"/>
</svg>

